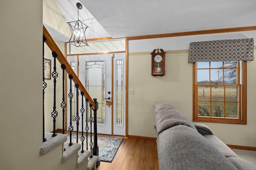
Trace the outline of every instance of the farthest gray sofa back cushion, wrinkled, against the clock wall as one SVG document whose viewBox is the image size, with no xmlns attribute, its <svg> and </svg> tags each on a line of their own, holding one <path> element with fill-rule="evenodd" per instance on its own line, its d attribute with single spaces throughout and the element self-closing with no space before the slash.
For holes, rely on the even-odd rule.
<svg viewBox="0 0 256 170">
<path fill-rule="evenodd" d="M 164 106 L 164 107 L 162 107 Z M 177 126 L 184 125 L 196 130 L 194 124 L 189 121 L 184 115 L 179 113 L 174 107 L 166 103 L 157 103 L 154 105 L 156 113 L 156 129 L 157 133 L 160 134 L 164 130 Z M 196 132 L 198 132 L 196 130 Z"/>
</svg>

